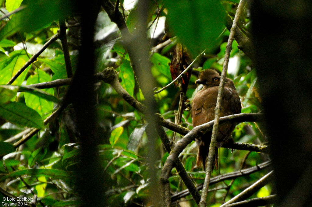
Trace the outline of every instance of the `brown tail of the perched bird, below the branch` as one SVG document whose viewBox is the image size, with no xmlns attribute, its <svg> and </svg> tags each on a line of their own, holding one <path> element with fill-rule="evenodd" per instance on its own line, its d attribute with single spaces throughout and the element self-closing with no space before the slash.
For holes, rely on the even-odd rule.
<svg viewBox="0 0 312 207">
<path fill-rule="evenodd" d="M 198 146 L 198 152 L 196 157 L 196 167 L 199 168 L 203 166 L 204 171 L 206 171 L 206 161 L 209 153 L 209 146 L 206 147 L 204 142 L 201 142 Z M 214 168 L 218 169 L 218 148 L 215 147 L 215 155 L 214 155 Z"/>
</svg>

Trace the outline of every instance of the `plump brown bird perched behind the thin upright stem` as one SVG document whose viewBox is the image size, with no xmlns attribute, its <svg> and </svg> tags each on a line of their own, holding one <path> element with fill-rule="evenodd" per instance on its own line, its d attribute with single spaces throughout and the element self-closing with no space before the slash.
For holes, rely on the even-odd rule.
<svg viewBox="0 0 312 207">
<path fill-rule="evenodd" d="M 193 127 L 207 123 L 214 120 L 214 113 L 217 104 L 217 94 L 220 84 L 221 76 L 215 70 L 203 70 L 199 79 L 195 81 L 196 84 L 203 84 L 202 90 L 198 91 L 194 96 L 192 103 L 192 124 Z M 237 94 L 234 83 L 231 79 L 226 78 L 223 90 L 223 97 L 221 102 L 221 114 L 227 116 L 231 114 L 241 113 L 241 101 Z M 217 133 L 217 146 L 215 153 L 215 167 L 218 167 L 218 149 L 222 147 L 223 143 L 232 141 L 232 132 L 235 128 L 235 124 L 227 124 L 219 126 Z M 206 159 L 208 156 L 209 145 L 212 132 L 207 132 L 202 139 L 196 139 L 198 146 L 196 167 L 203 166 L 206 170 Z"/>
</svg>

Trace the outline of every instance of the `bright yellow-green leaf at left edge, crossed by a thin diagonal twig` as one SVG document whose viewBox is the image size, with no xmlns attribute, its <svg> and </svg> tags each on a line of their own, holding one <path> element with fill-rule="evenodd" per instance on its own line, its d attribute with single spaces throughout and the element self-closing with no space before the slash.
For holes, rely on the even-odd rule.
<svg viewBox="0 0 312 207">
<path fill-rule="evenodd" d="M 22 68 L 23 65 L 25 65 L 26 61 L 28 60 L 28 57 L 23 54 L 22 51 L 17 51 L 15 53 L 10 53 L 9 55 L 12 58 L 6 59 L 3 64 L 4 68 L 0 67 L 0 84 L 7 84 L 9 80 L 17 73 L 19 69 Z M 30 66 L 27 67 L 24 72 L 20 76 L 17 77 L 17 79 L 13 82 L 13 85 L 21 85 L 24 81 L 27 71 L 30 68 Z"/>
</svg>

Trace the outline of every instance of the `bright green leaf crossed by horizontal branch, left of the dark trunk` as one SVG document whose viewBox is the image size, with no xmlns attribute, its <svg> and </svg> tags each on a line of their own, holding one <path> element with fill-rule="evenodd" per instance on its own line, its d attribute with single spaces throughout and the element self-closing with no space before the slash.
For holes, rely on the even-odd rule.
<svg viewBox="0 0 312 207">
<path fill-rule="evenodd" d="M 42 70 L 37 70 L 37 74 L 32 75 L 27 79 L 27 85 L 48 82 L 50 80 L 50 75 Z M 43 89 L 43 91 L 48 94 L 54 94 L 53 89 Z M 53 102 L 47 101 L 46 99 L 41 98 L 41 96 L 35 95 L 33 92 L 25 92 L 25 103 L 28 107 L 36 110 L 42 118 L 48 117 L 53 110 Z"/>
</svg>

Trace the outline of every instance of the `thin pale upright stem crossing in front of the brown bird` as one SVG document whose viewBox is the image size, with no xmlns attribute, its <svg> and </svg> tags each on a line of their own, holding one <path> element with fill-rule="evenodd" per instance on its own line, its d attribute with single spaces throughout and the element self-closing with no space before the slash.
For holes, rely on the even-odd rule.
<svg viewBox="0 0 312 207">
<path fill-rule="evenodd" d="M 229 36 L 229 39 L 227 41 L 227 46 L 226 46 L 226 50 L 225 50 L 221 80 L 220 80 L 218 96 L 217 96 L 217 105 L 215 108 L 215 119 L 214 119 L 214 124 L 213 124 L 213 128 L 212 128 L 211 142 L 209 145 L 206 176 L 205 176 L 205 180 L 204 180 L 204 184 L 203 184 L 203 188 L 202 188 L 201 200 L 199 202 L 200 207 L 206 206 L 207 190 L 208 190 L 208 186 L 209 186 L 210 174 L 211 174 L 212 167 L 213 167 L 213 158 L 214 158 L 214 154 L 215 154 L 217 132 L 218 132 L 218 127 L 219 127 L 221 100 L 222 100 L 223 88 L 224 88 L 224 83 L 225 83 L 224 80 L 225 80 L 225 76 L 227 74 L 227 66 L 228 66 L 229 59 L 230 59 L 230 52 L 232 50 L 232 43 L 234 40 L 235 29 L 237 27 L 237 22 L 238 22 L 239 16 L 240 16 L 241 12 L 243 11 L 245 2 L 246 2 L 246 0 L 241 0 L 238 4 L 238 7 L 237 7 L 236 13 L 235 13 L 235 17 L 233 20 L 233 25 L 232 25 L 232 28 L 230 31 L 230 36 Z"/>
</svg>

